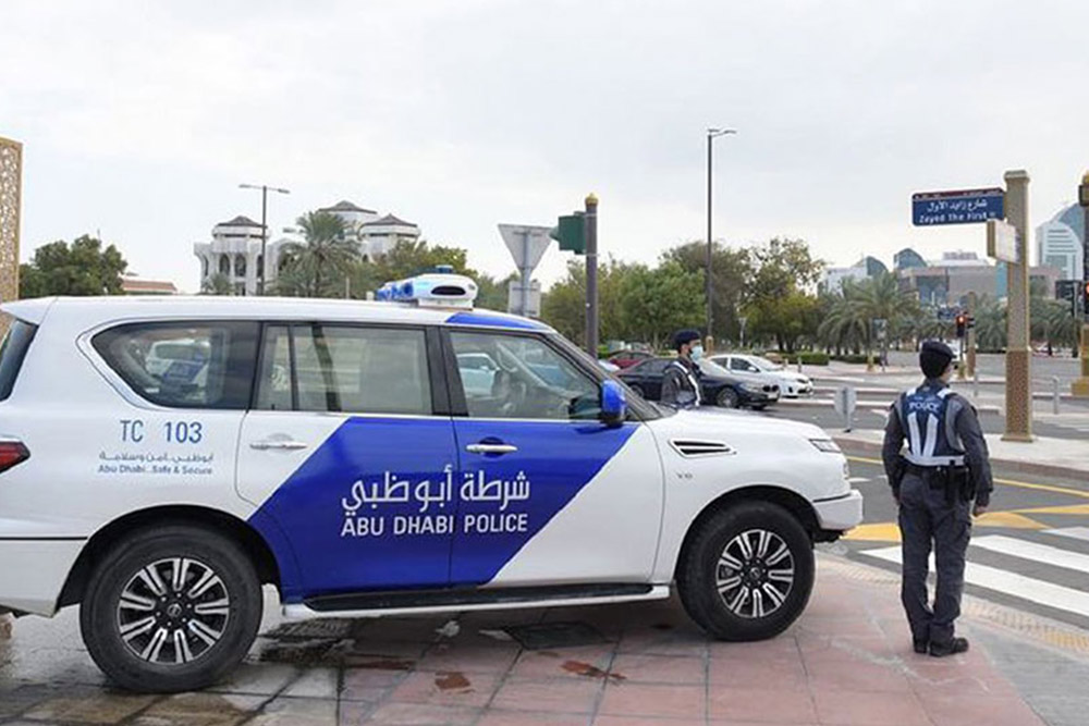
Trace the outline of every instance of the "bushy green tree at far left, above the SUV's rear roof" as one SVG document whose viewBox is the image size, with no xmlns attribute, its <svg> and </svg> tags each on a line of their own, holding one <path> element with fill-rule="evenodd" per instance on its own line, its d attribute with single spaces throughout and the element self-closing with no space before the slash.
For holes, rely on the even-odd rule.
<svg viewBox="0 0 1089 726">
<path fill-rule="evenodd" d="M 49 295 L 121 295 L 121 275 L 129 267 L 118 248 L 90 235 L 70 245 L 58 241 L 34 251 L 28 264 L 20 266 L 22 298 Z"/>
</svg>

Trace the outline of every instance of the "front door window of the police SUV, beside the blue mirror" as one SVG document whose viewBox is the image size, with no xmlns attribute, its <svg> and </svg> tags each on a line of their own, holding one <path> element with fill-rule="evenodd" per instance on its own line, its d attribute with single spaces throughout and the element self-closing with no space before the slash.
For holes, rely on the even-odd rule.
<svg viewBox="0 0 1089 726">
<path fill-rule="evenodd" d="M 468 414 L 474 418 L 597 419 L 600 389 L 577 366 L 538 337 L 450 334 Z M 494 370 L 485 376 L 476 361 Z"/>
</svg>

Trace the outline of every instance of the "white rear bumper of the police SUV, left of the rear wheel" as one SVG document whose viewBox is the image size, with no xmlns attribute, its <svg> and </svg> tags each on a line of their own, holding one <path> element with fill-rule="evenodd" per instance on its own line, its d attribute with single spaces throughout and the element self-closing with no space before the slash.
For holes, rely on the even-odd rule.
<svg viewBox="0 0 1089 726">
<path fill-rule="evenodd" d="M 0 540 L 0 607 L 51 616 L 85 540 Z"/>
</svg>

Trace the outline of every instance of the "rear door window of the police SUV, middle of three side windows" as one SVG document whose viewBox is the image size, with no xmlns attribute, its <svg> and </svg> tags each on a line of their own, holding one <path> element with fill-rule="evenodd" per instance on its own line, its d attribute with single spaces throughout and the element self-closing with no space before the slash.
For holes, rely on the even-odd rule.
<svg viewBox="0 0 1089 726">
<path fill-rule="evenodd" d="M 284 325 L 266 331 L 257 407 L 431 414 L 423 330 Z"/>
</svg>

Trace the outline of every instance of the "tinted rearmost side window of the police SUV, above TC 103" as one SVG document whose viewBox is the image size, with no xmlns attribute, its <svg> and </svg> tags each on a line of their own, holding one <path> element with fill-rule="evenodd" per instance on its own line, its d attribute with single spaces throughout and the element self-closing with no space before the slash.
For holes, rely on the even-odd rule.
<svg viewBox="0 0 1089 726">
<path fill-rule="evenodd" d="M 93 340 L 133 391 L 171 408 L 245 409 L 257 358 L 256 322 L 148 322 Z"/>
</svg>

